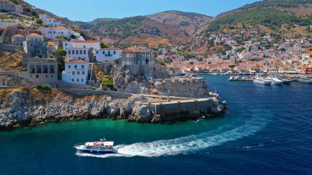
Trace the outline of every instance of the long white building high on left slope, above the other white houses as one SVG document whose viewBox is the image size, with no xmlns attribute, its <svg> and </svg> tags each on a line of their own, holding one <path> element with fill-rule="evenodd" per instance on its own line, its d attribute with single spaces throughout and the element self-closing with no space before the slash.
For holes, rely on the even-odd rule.
<svg viewBox="0 0 312 175">
<path fill-rule="evenodd" d="M 65 27 L 42 27 L 41 33 L 44 37 L 55 40 L 56 37 L 67 37 L 71 38 L 71 35 L 80 37 L 79 33 L 74 33 L 73 30 Z"/>
</svg>

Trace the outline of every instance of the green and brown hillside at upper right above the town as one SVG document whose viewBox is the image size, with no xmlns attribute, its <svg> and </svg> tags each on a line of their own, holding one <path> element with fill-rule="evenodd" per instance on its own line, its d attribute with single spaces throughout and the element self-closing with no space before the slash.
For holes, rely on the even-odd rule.
<svg viewBox="0 0 312 175">
<path fill-rule="evenodd" d="M 256 31 L 286 38 L 312 37 L 312 0 L 265 0 L 223 12 L 202 26 L 191 43 L 193 51 L 211 53 L 209 36 Z"/>
</svg>

